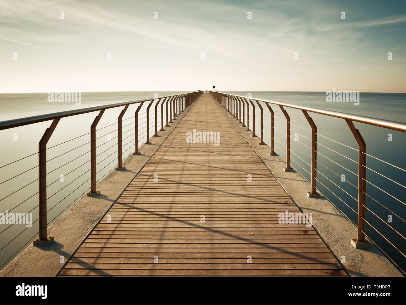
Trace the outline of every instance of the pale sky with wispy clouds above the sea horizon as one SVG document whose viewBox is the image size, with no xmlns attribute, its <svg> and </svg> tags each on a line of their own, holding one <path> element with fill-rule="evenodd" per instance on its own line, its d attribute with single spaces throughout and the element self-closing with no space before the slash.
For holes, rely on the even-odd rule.
<svg viewBox="0 0 406 305">
<path fill-rule="evenodd" d="M 406 92 L 405 37 L 404 0 L 0 0 L 0 92 Z"/>
</svg>

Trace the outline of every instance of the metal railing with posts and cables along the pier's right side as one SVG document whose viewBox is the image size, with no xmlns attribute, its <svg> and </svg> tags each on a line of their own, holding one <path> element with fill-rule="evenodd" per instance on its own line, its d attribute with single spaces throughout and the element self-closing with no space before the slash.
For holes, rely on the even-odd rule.
<svg viewBox="0 0 406 305">
<path fill-rule="evenodd" d="M 218 92 L 218 91 L 209 91 L 210 94 L 220 103 L 220 105 L 222 105 L 222 107 L 224 107 L 231 115 L 233 118 L 235 118 L 236 120 L 239 121 L 239 123 L 242 124 L 243 127 L 247 127 L 246 131 L 251 131 L 250 127 L 252 126 L 252 133 L 253 133 L 253 137 L 256 137 L 256 133 L 255 133 L 255 104 L 258 106 L 258 109 L 260 111 L 260 142 L 259 144 L 265 144 L 263 142 L 263 107 L 261 106 L 260 102 L 263 102 L 269 112 L 270 112 L 270 125 L 271 125 L 271 129 L 270 131 L 270 137 L 271 137 L 271 143 L 270 143 L 270 152 L 269 155 L 276 155 L 275 153 L 275 142 L 277 142 L 278 144 L 280 144 L 281 146 L 283 146 L 283 150 L 286 157 L 285 157 L 285 161 L 286 161 L 286 166 L 283 169 L 284 171 L 292 171 L 292 170 L 296 170 L 291 162 L 295 161 L 294 159 L 292 159 L 292 154 L 294 154 L 296 157 L 298 157 L 298 159 L 300 159 L 301 162 L 307 164 L 311 170 L 310 172 L 308 170 L 306 170 L 305 168 L 303 168 L 298 162 L 295 161 L 296 164 L 298 164 L 298 166 L 300 166 L 300 168 L 302 168 L 302 170 L 304 170 L 304 172 L 306 172 L 307 174 L 309 174 L 309 176 L 311 177 L 310 181 L 309 179 L 307 179 L 305 176 L 304 179 L 306 179 L 309 184 L 310 184 L 310 191 L 307 193 L 307 196 L 309 197 L 317 197 L 320 196 L 320 194 L 322 194 L 322 192 L 320 191 L 320 186 L 322 185 L 324 188 L 326 188 L 328 191 L 330 191 L 333 195 L 335 195 L 335 197 L 337 197 L 340 202 L 342 202 L 344 205 L 346 205 L 350 210 L 352 210 L 356 216 L 357 216 L 357 221 L 356 223 L 354 223 L 345 213 L 343 213 L 348 219 L 350 219 L 357 227 L 357 233 L 356 233 L 356 238 L 354 238 L 351 243 L 355 248 L 361 248 L 361 247 L 365 247 L 368 244 L 368 240 L 370 240 L 371 242 L 374 242 L 371 237 L 369 237 L 366 233 L 366 227 L 367 224 L 369 225 L 369 227 L 371 227 L 372 229 L 374 229 L 374 231 L 376 231 L 378 233 L 379 236 L 381 236 L 384 240 L 386 240 L 391 246 L 393 246 L 394 249 L 396 249 L 401 257 L 404 259 L 406 258 L 405 254 L 402 252 L 401 249 L 399 249 L 393 242 L 391 242 L 391 240 L 389 240 L 390 237 L 385 236 L 379 229 L 376 229 L 374 227 L 373 224 L 371 224 L 371 222 L 368 222 L 368 220 L 366 219 L 366 214 L 367 211 L 371 214 L 374 214 L 374 216 L 376 216 L 380 221 L 382 221 L 383 223 L 385 223 L 387 225 L 387 227 L 389 227 L 397 236 L 399 237 L 401 242 L 404 244 L 406 238 L 404 237 L 404 235 L 402 235 L 402 233 L 400 233 L 397 229 L 395 229 L 389 222 L 385 221 L 384 219 L 382 219 L 380 216 L 378 216 L 377 212 L 372 211 L 371 209 L 369 209 L 366 205 L 366 201 L 367 201 L 367 197 L 370 198 L 371 200 L 374 200 L 375 203 L 377 203 L 378 205 L 380 205 L 380 207 L 383 207 L 386 211 L 391 212 L 391 214 L 394 214 L 395 216 L 397 216 L 397 218 L 399 218 L 402 223 L 404 224 L 406 221 L 404 220 L 405 217 L 402 215 L 398 215 L 395 212 L 393 212 L 389 207 L 387 207 L 386 205 L 382 204 L 381 202 L 379 202 L 378 200 L 376 200 L 376 198 L 372 197 L 371 195 L 369 195 L 367 193 L 367 184 L 373 186 L 374 188 L 376 188 L 377 190 L 380 190 L 381 192 L 383 192 L 384 194 L 390 196 L 391 198 L 393 198 L 395 201 L 397 201 L 398 203 L 406 206 L 406 203 L 404 202 L 404 200 L 397 198 L 396 196 L 393 196 L 392 194 L 390 194 L 389 192 L 383 190 L 381 187 L 379 187 L 378 185 L 376 185 L 375 183 L 373 183 L 372 181 L 369 181 L 367 179 L 367 170 L 370 170 L 372 172 L 374 172 L 375 174 L 380 175 L 381 177 L 383 177 L 384 179 L 387 179 L 388 181 L 391 181 L 392 183 L 395 183 L 396 185 L 406 189 L 406 186 L 402 183 L 399 183 L 387 176 L 385 176 L 384 174 L 378 172 L 378 170 L 374 170 L 372 168 L 367 167 L 366 165 L 366 161 L 367 161 L 367 157 L 371 157 L 375 160 L 379 160 L 382 163 L 384 163 L 385 165 L 389 165 L 392 166 L 393 168 L 397 168 L 397 170 L 400 170 L 402 172 L 406 172 L 405 169 L 400 168 L 399 166 L 396 166 L 394 164 L 391 164 L 390 162 L 384 161 L 378 157 L 372 156 L 367 154 L 367 144 L 365 143 L 361 132 L 355 128 L 354 126 L 354 122 L 360 122 L 363 124 L 369 124 L 372 126 L 378 126 L 378 127 L 382 127 L 382 128 L 387 128 L 387 129 L 392 129 L 395 131 L 401 131 L 401 132 L 406 132 L 406 124 L 401 123 L 401 122 L 393 122 L 393 121 L 388 121 L 388 120 L 381 120 L 381 119 L 377 119 L 377 118 L 369 118 L 369 117 L 365 117 L 365 116 L 361 116 L 361 115 L 353 115 L 353 114 L 349 114 L 349 113 L 341 113 L 341 112 L 336 112 L 336 111 L 328 111 L 328 110 L 322 110 L 322 109 L 315 109 L 315 108 L 311 108 L 311 107 L 303 107 L 303 106 L 298 106 L 298 105 L 290 105 L 290 104 L 286 104 L 286 103 L 282 103 L 282 102 L 274 102 L 274 101 L 269 101 L 269 100 L 262 100 L 259 98 L 252 98 L 252 97 L 246 97 L 246 96 L 239 96 L 239 95 L 234 95 L 234 94 L 227 94 L 227 93 L 222 93 L 222 92 Z M 255 101 L 256 103 L 254 103 L 253 101 Z M 252 113 L 252 124 L 250 124 L 250 104 L 252 106 L 253 109 L 253 113 Z M 271 106 L 277 106 L 281 112 L 283 113 L 283 116 L 285 117 L 285 126 L 278 124 L 275 122 L 275 114 L 274 111 L 272 109 Z M 245 107 L 247 108 L 247 115 L 245 115 Z M 302 111 L 304 118 L 306 119 L 306 121 L 309 123 L 309 127 L 310 129 L 305 129 L 301 126 L 295 125 L 297 127 L 300 127 L 304 130 L 307 130 L 311 133 L 311 138 L 308 137 L 304 137 L 305 139 L 311 141 L 311 147 L 303 144 L 301 142 L 302 145 L 304 145 L 306 148 L 311 150 L 311 155 L 304 153 L 302 150 L 300 150 L 300 148 L 298 148 L 298 150 L 300 150 L 305 156 L 307 156 L 310 159 L 310 163 L 307 162 L 306 160 L 304 160 L 302 157 L 300 157 L 298 154 L 295 154 L 292 151 L 292 147 L 291 147 L 291 118 L 289 117 L 289 114 L 286 111 L 286 108 L 289 109 L 297 109 Z M 350 147 L 346 144 L 340 143 L 338 141 L 336 141 L 335 139 L 330 139 L 328 137 L 325 137 L 323 135 L 320 135 L 317 132 L 317 126 L 315 124 L 315 122 L 313 121 L 313 119 L 311 118 L 311 116 L 309 115 L 309 113 L 317 113 L 317 114 L 321 114 L 321 115 L 326 115 L 329 117 L 334 117 L 334 118 L 339 118 L 339 119 L 343 119 L 345 120 L 346 124 L 349 127 L 350 132 L 352 133 L 356 143 L 358 144 L 358 149 Z M 246 125 L 245 125 L 245 118 L 246 118 Z M 283 120 L 283 119 L 280 119 Z M 279 129 L 275 128 L 275 124 L 282 126 L 283 128 L 286 129 L 286 133 L 284 133 L 283 131 L 280 131 Z M 282 139 L 282 142 L 285 142 L 285 145 L 283 145 L 283 143 L 279 142 L 278 140 L 275 139 L 275 129 L 280 131 L 282 134 L 285 135 L 285 139 Z M 320 143 L 320 141 L 317 141 L 317 135 L 331 140 L 337 144 L 341 144 L 343 146 L 346 146 L 347 148 L 350 148 L 352 150 L 355 150 L 358 152 L 358 160 L 353 160 L 335 150 L 332 150 L 324 145 L 322 145 Z M 357 172 L 351 171 L 348 168 L 342 166 L 341 164 L 339 164 L 338 162 L 334 161 L 331 158 L 328 158 L 327 156 L 323 155 L 322 153 L 317 151 L 317 146 L 322 146 L 323 148 L 326 148 L 328 151 L 337 153 L 338 155 L 340 155 L 341 157 L 344 157 L 354 163 L 356 163 L 357 165 Z M 347 192 L 346 190 L 344 190 L 342 187 L 340 187 L 339 185 L 337 185 L 333 180 L 329 179 L 326 175 L 324 175 L 320 170 L 317 169 L 317 165 L 321 165 L 323 166 L 323 168 L 326 168 L 326 170 L 328 170 L 329 172 L 332 172 L 333 174 L 335 174 L 336 176 L 339 176 L 339 174 L 337 174 L 336 172 L 334 172 L 333 170 L 331 170 L 330 168 L 326 167 L 322 162 L 317 160 L 317 156 L 322 156 L 325 159 L 328 159 L 329 161 L 331 161 L 332 163 L 335 164 L 335 166 L 339 166 L 345 170 L 348 170 L 348 172 L 351 172 L 352 174 L 354 174 L 357 177 L 357 183 L 356 185 L 354 183 L 351 183 L 350 181 L 346 181 L 348 182 L 350 185 L 352 185 L 352 187 L 356 188 L 356 192 L 357 192 L 357 196 L 352 196 L 349 192 Z M 303 164 L 302 163 L 302 164 Z M 296 170 L 297 171 L 297 170 Z M 297 171 L 299 172 L 299 171 Z M 299 172 L 300 173 L 300 172 Z M 335 187 L 338 187 L 341 191 L 343 191 L 344 193 L 346 193 L 348 196 L 350 196 L 350 198 L 352 198 L 353 200 L 356 201 L 357 204 L 357 211 L 352 209 L 352 207 L 350 207 L 350 205 L 348 205 L 346 203 L 345 200 L 341 199 L 337 194 L 335 194 L 332 190 L 330 190 L 325 184 L 323 184 L 320 180 L 319 177 L 317 177 L 317 174 L 320 174 L 323 179 L 327 179 L 329 181 L 329 183 L 333 183 L 333 185 L 335 185 Z M 323 194 L 322 194 L 323 195 Z M 324 196 L 324 195 L 323 195 Z M 326 197 L 326 196 L 325 196 Z M 327 198 L 327 197 L 326 197 Z M 331 200 L 330 200 L 331 202 Z M 337 207 L 337 206 L 336 206 Z M 338 208 L 338 207 L 337 207 Z M 341 209 L 339 209 L 341 211 Z M 368 239 L 368 240 L 367 240 Z M 376 243 L 374 242 L 374 244 L 393 262 L 393 264 L 395 264 L 398 268 L 400 268 L 400 266 L 387 254 L 385 253 L 384 250 L 382 250 L 382 248 Z M 400 270 L 402 270 L 402 272 L 404 274 L 405 271 L 400 268 Z"/>
</svg>

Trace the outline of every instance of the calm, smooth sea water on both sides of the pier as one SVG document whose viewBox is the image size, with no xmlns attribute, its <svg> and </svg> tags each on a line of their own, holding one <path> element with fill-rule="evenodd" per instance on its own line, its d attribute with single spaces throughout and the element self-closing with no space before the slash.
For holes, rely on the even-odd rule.
<svg viewBox="0 0 406 305">
<path fill-rule="evenodd" d="M 159 96 L 184 92 L 157 92 Z M 324 92 L 274 92 L 274 91 L 229 91 L 230 94 L 253 98 L 286 102 L 332 111 L 352 113 L 374 118 L 406 122 L 406 94 L 363 93 L 360 94 L 358 106 L 353 103 L 326 102 Z M 54 113 L 110 103 L 154 98 L 154 92 L 89 92 L 82 93 L 80 106 L 74 103 L 50 103 L 46 93 L 34 94 L 0 94 L 0 121 L 22 118 L 43 113 Z M 132 105 L 123 117 L 123 157 L 134 151 L 134 112 Z M 146 141 L 147 103 L 140 110 L 140 145 Z M 159 107 L 160 108 L 160 107 Z M 252 107 L 250 107 L 252 130 Z M 279 107 L 272 107 L 275 112 L 275 150 L 285 158 L 285 117 Z M 122 107 L 108 109 L 97 125 L 97 180 L 102 179 L 117 165 L 117 116 Z M 263 105 L 264 142 L 270 145 L 270 113 Z M 291 118 L 292 166 L 302 176 L 310 180 L 311 132 L 302 111 L 286 109 Z M 247 114 L 247 112 L 246 112 Z M 325 115 L 309 113 L 317 125 L 317 189 L 336 205 L 352 222 L 356 223 L 358 159 L 357 145 L 345 120 Z M 90 124 L 97 112 L 63 118 L 58 123 L 54 134 L 48 142 L 48 222 L 58 219 L 73 203 L 88 192 L 90 187 Z M 164 120 L 165 110 L 164 110 Z M 161 113 L 158 109 L 158 126 Z M 150 134 L 154 131 L 155 114 L 150 111 Z M 246 120 L 246 119 L 245 119 Z M 256 133 L 260 133 L 260 112 L 256 111 Z M 389 162 L 384 163 L 374 157 L 367 157 L 367 235 L 379 246 L 395 264 L 406 270 L 406 169 L 404 152 L 406 135 L 402 132 L 354 123 L 361 131 L 367 143 L 367 153 Z M 38 142 L 50 121 L 0 131 L 2 152 L 0 160 L 0 213 L 6 210 L 15 213 L 31 212 L 33 221 L 38 218 Z M 106 126 L 105 128 L 103 128 Z M 388 140 L 391 134 L 391 141 Z M 294 141 L 294 137 L 298 141 Z M 76 138 L 64 143 L 69 139 Z M 17 139 L 17 140 L 15 140 Z M 333 139 L 334 141 L 330 140 Z M 339 144 L 339 143 L 341 144 Z M 60 144 L 63 143 L 63 144 Z M 60 145 L 57 145 L 60 144 Z M 345 144 L 346 146 L 342 145 Z M 350 146 L 352 148 L 348 148 Z M 75 149 L 74 149 L 75 148 Z M 69 153 L 67 153 L 69 151 Z M 26 156 L 30 157 L 24 158 Z M 10 162 L 17 161 L 4 166 Z M 282 169 L 282 167 L 281 167 Z M 374 172 L 375 171 L 375 172 Z M 378 172 L 379 174 L 377 174 Z M 22 173 L 22 174 L 20 174 Z M 19 176 L 13 178 L 19 174 Z M 60 182 L 60 175 L 65 181 Z M 341 182 L 341 175 L 346 181 Z M 387 178 L 383 177 L 386 176 Z M 397 183 L 389 180 L 396 181 Z M 10 180 L 9 180 L 10 179 Z M 31 183 L 30 183 L 31 182 Z M 28 184 L 30 183 L 30 184 Z M 403 186 L 402 186 L 403 185 Z M 381 189 L 381 190 L 380 190 Z M 383 192 L 383 191 L 384 192 Z M 385 192 L 389 193 L 386 194 Z M 354 210 L 354 211 L 353 211 Z M 391 222 L 388 222 L 388 219 Z M 376 228 L 384 237 L 377 233 Z M 393 228 L 393 229 L 392 229 Z M 17 255 L 32 242 L 38 233 L 38 221 L 31 228 L 24 224 L 0 224 L 0 265 Z M 354 237 L 356 227 L 354 226 Z M 349 240 L 337 241 L 349 243 Z"/>
</svg>

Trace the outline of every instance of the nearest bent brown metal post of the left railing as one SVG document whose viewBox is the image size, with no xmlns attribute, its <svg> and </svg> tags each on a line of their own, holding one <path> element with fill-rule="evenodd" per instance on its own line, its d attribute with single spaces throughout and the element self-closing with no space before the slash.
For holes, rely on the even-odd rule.
<svg viewBox="0 0 406 305">
<path fill-rule="evenodd" d="M 39 235 L 34 240 L 35 246 L 47 246 L 54 242 L 54 237 L 47 235 L 47 143 L 59 120 L 52 121 L 38 143 Z"/>
</svg>

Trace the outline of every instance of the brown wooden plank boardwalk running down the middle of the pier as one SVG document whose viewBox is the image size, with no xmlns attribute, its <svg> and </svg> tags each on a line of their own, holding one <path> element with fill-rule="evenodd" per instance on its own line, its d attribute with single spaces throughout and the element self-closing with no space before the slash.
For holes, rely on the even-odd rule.
<svg viewBox="0 0 406 305">
<path fill-rule="evenodd" d="M 193 129 L 220 145 L 187 143 Z M 278 223 L 285 211 L 300 213 L 203 94 L 60 276 L 346 276 L 313 227 Z"/>
</svg>

